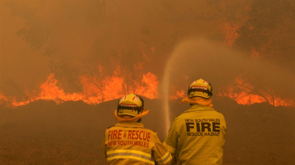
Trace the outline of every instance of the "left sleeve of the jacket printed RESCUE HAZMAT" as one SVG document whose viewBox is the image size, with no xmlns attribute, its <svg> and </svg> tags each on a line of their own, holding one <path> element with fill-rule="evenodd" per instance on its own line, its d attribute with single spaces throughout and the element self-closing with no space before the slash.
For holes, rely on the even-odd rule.
<svg viewBox="0 0 295 165">
<path fill-rule="evenodd" d="M 170 151 L 170 154 L 172 156 L 172 164 L 177 163 L 177 154 L 176 154 L 177 144 L 178 144 L 178 134 L 176 131 L 175 121 L 173 121 L 173 123 L 168 131 L 168 135 L 164 141 L 165 147 L 168 148 L 168 150 Z"/>
</svg>

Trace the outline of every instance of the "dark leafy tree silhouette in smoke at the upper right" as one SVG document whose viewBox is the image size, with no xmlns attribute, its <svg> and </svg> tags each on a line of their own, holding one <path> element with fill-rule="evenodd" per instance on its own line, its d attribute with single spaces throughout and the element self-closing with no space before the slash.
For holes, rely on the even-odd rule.
<svg viewBox="0 0 295 165">
<path fill-rule="evenodd" d="M 295 2 L 289 0 L 254 0 L 249 18 L 237 30 L 235 47 L 246 52 L 258 52 L 260 57 L 294 69 L 294 6 Z"/>
</svg>

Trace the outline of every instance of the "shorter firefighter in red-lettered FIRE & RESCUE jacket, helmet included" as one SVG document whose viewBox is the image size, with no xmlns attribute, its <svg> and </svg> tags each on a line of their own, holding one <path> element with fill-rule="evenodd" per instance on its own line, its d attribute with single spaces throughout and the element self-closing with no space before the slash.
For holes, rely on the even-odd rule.
<svg viewBox="0 0 295 165">
<path fill-rule="evenodd" d="M 119 123 L 106 129 L 102 144 L 108 164 L 171 164 L 172 156 L 158 134 L 140 123 L 148 112 L 137 95 L 131 93 L 119 100 L 114 112 Z"/>
</svg>

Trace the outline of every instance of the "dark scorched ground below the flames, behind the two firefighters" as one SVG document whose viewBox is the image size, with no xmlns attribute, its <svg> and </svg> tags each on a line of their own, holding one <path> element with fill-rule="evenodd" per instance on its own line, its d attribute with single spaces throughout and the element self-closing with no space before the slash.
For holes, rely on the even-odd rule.
<svg viewBox="0 0 295 165">
<path fill-rule="evenodd" d="M 145 127 L 164 140 L 162 105 L 144 99 L 150 113 Z M 87 105 L 84 102 L 39 100 L 15 109 L 0 106 L 0 164 L 105 164 L 101 142 L 107 127 L 116 123 L 118 100 Z M 170 103 L 171 120 L 189 108 Z M 238 105 L 214 100 L 227 121 L 224 164 L 295 164 L 295 108 L 266 103 Z"/>
</svg>

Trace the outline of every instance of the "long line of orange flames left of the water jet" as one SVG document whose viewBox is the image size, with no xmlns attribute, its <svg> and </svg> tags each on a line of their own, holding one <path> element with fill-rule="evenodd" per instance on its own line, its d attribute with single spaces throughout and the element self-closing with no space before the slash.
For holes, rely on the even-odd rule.
<svg viewBox="0 0 295 165">
<path fill-rule="evenodd" d="M 103 68 L 99 67 L 99 70 L 102 71 Z M 0 93 L 0 103 L 6 103 L 12 107 L 24 105 L 35 100 L 54 100 L 57 104 L 69 100 L 82 100 L 88 104 L 98 104 L 123 97 L 128 93 L 135 93 L 150 99 L 158 97 L 158 77 L 156 75 L 150 72 L 145 73 L 142 75 L 140 81 L 137 82 L 134 80 L 134 87 L 127 89 L 128 85 L 124 83 L 124 78 L 118 77 L 118 73 L 116 72 L 114 71 L 114 76 L 106 77 L 102 80 L 101 88 L 95 86 L 93 83 L 91 84 L 89 78 L 86 76 L 80 76 L 83 92 L 79 93 L 65 92 L 61 85 L 58 85 L 59 81 L 54 78 L 54 74 L 51 73 L 46 81 L 40 85 L 37 95 L 35 92 L 27 92 L 30 96 L 26 100 L 17 101 L 15 97 L 5 97 Z"/>
</svg>

